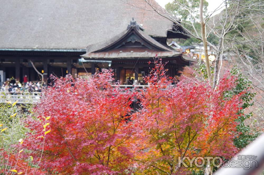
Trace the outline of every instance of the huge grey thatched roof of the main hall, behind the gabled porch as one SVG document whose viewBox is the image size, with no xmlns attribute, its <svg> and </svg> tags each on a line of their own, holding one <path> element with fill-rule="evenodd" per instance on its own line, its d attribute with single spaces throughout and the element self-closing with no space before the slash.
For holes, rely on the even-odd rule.
<svg viewBox="0 0 264 175">
<path fill-rule="evenodd" d="M 83 49 L 122 33 L 134 17 L 144 33 L 166 37 L 173 22 L 143 0 L 0 0 L 0 49 Z M 156 3 L 153 1 L 153 3 Z"/>
</svg>

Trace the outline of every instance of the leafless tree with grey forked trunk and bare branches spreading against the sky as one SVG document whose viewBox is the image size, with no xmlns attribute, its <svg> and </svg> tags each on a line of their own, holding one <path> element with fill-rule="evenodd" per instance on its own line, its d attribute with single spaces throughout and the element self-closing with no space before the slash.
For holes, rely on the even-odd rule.
<svg viewBox="0 0 264 175">
<path fill-rule="evenodd" d="M 161 15 L 162 17 L 172 21 L 175 24 L 173 32 L 181 33 L 183 35 L 187 35 L 191 38 L 198 39 L 202 41 L 204 44 L 210 46 L 216 55 L 216 59 L 214 62 L 214 75 L 213 75 L 213 82 L 211 83 L 213 88 L 216 87 L 216 85 L 219 82 L 219 75 L 220 75 L 220 68 L 221 68 L 221 60 L 223 59 L 223 53 L 226 51 L 226 45 L 225 45 L 225 39 L 227 38 L 227 35 L 231 33 L 234 30 L 237 30 L 237 26 L 239 26 L 241 23 L 245 22 L 246 20 L 249 20 L 249 16 L 243 17 L 243 21 L 241 21 L 241 15 L 244 12 L 245 8 L 250 8 L 252 6 L 252 3 L 243 3 L 244 0 L 224 0 L 219 7 L 214 9 L 211 12 L 208 12 L 208 14 L 200 14 L 200 12 L 203 12 L 204 5 L 201 4 L 204 1 L 199 0 L 174 0 L 173 3 L 176 8 L 173 8 L 171 10 L 165 10 L 161 6 L 159 6 L 155 1 L 153 0 L 144 0 L 145 5 L 142 6 L 142 4 L 139 3 L 131 3 L 129 0 L 122 0 L 125 3 L 130 4 L 131 6 L 137 7 L 137 8 L 143 8 L 144 10 L 153 11 L 154 13 L 157 13 Z M 200 6 L 201 5 L 201 6 Z M 259 5 L 260 7 L 262 4 L 255 4 L 256 6 Z M 197 8 L 202 7 L 202 8 Z M 217 20 L 214 20 L 214 13 L 217 11 L 220 11 L 224 8 L 224 11 L 220 13 L 220 16 Z M 175 11 L 185 11 L 186 13 L 183 14 L 183 16 L 176 16 Z M 258 13 L 263 13 L 263 11 L 259 11 Z M 200 15 L 199 15 L 200 14 Z M 201 16 L 202 15 L 202 16 Z M 252 16 L 255 16 L 256 14 L 252 13 Z M 201 20 L 201 17 L 203 20 Z M 181 19 L 185 20 L 181 20 Z M 208 24 L 210 21 L 210 24 Z M 204 32 L 201 27 L 197 27 L 197 25 L 204 26 Z M 179 30 L 180 28 L 184 29 L 186 32 L 182 32 Z M 199 30 L 202 29 L 201 31 Z M 205 35 L 205 39 L 207 39 L 210 35 L 215 35 L 217 38 L 217 44 L 214 44 L 210 41 L 203 39 L 202 35 Z M 207 47 L 204 47 L 204 50 L 206 52 Z M 208 57 L 208 53 L 205 53 L 205 57 Z M 220 61 L 220 66 L 219 66 Z M 208 65 L 207 65 L 208 66 Z M 211 78 L 210 72 L 208 73 L 209 79 Z M 209 80 L 210 81 L 210 80 Z"/>
</svg>

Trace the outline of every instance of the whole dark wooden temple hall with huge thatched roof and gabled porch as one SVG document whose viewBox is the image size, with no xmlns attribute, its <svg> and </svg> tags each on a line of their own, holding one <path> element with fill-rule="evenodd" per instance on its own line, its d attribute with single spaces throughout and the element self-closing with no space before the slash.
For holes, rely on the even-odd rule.
<svg viewBox="0 0 264 175">
<path fill-rule="evenodd" d="M 50 74 L 88 78 L 96 70 L 112 68 L 116 80 L 124 83 L 127 78 L 142 80 L 156 54 L 168 62 L 170 76 L 194 61 L 166 43 L 169 38 L 186 39 L 185 31 L 149 10 L 144 0 L 1 4 L 2 82 L 11 77 L 22 81 L 24 75 L 39 81 L 37 72 L 48 82 Z"/>
</svg>

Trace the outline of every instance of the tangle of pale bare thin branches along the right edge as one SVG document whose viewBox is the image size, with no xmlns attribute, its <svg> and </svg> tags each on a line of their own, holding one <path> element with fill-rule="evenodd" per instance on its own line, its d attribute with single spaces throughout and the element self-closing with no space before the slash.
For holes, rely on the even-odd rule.
<svg viewBox="0 0 264 175">
<path fill-rule="evenodd" d="M 254 90 L 257 92 L 254 98 L 254 110 L 255 115 L 251 118 L 250 123 L 256 125 L 252 127 L 259 127 L 264 129 L 264 29 L 262 16 L 251 16 L 251 24 L 249 29 L 246 29 L 242 25 L 243 30 L 238 32 L 241 35 L 240 38 L 234 36 L 233 38 L 227 38 L 231 47 L 228 49 L 231 55 L 227 56 L 230 61 L 235 62 L 243 72 L 248 75 L 254 86 Z M 254 29 L 254 30 L 252 30 Z M 258 122 L 256 122 L 258 121 Z"/>
</svg>

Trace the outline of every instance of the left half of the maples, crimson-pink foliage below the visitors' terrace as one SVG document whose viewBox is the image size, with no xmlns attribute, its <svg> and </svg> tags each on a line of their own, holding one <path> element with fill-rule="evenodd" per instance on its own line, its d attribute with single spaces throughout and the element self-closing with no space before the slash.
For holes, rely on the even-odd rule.
<svg viewBox="0 0 264 175">
<path fill-rule="evenodd" d="M 131 93 L 112 87 L 112 77 L 111 70 L 103 70 L 89 80 L 69 75 L 52 77 L 54 85 L 44 90 L 34 109 L 37 119 L 27 122 L 32 133 L 25 142 L 39 158 L 43 140 L 40 123 L 43 117 L 51 116 L 40 169 L 51 174 L 129 171 L 133 154 L 128 147 L 134 139 L 128 118 Z"/>
</svg>

